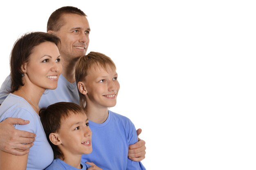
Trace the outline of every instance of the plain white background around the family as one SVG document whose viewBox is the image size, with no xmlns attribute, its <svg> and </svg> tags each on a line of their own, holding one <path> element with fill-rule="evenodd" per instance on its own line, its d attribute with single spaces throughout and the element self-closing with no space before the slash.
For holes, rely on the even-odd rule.
<svg viewBox="0 0 256 170">
<path fill-rule="evenodd" d="M 147 170 L 256 169 L 256 5 L 249 0 L 5 1 L 0 82 L 28 31 L 71 5 L 88 15 L 88 52 L 117 65 L 117 106 L 142 128 Z"/>
</svg>

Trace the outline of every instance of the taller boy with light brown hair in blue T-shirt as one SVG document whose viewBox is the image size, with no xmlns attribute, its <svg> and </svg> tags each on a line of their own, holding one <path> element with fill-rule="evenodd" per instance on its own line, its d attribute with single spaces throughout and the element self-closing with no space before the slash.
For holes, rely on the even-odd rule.
<svg viewBox="0 0 256 170">
<path fill-rule="evenodd" d="M 90 52 L 76 63 L 80 106 L 93 132 L 93 151 L 82 162 L 93 161 L 103 170 L 145 170 L 141 162 L 128 159 L 128 146 L 137 142 L 134 124 L 108 110 L 117 103 L 120 88 L 114 62 L 102 53 Z"/>
</svg>

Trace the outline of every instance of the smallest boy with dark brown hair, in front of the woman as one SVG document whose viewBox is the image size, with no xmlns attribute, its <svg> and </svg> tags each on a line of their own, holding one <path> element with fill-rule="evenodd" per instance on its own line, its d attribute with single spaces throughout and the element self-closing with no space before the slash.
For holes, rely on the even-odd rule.
<svg viewBox="0 0 256 170">
<path fill-rule="evenodd" d="M 94 163 L 81 163 L 82 154 L 92 152 L 92 131 L 79 105 L 59 102 L 42 108 L 39 114 L 54 151 L 54 161 L 45 170 L 102 170 Z"/>
</svg>

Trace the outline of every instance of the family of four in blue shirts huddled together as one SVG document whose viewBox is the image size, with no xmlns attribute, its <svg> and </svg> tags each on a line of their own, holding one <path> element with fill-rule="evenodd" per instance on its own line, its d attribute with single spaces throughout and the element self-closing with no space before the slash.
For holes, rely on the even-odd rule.
<svg viewBox="0 0 256 170">
<path fill-rule="evenodd" d="M 61 7 L 47 33 L 14 43 L 0 88 L 0 169 L 146 170 L 145 141 L 109 110 L 119 92 L 116 65 L 91 51 L 87 15 Z"/>
</svg>

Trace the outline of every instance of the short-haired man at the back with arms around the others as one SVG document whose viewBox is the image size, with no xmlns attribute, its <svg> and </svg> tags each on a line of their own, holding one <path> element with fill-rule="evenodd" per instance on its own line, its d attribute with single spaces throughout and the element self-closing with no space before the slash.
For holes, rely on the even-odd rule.
<svg viewBox="0 0 256 170">
<path fill-rule="evenodd" d="M 89 45 L 90 26 L 85 13 L 76 7 L 61 7 L 54 11 L 47 22 L 47 32 L 61 39 L 59 51 L 62 75 L 55 90 L 47 90 L 41 97 L 40 108 L 56 102 L 73 102 L 79 104 L 79 94 L 75 82 L 76 61 L 86 54 Z M 7 97 L 10 89 L 10 76 L 0 88 L 0 104 Z M 25 155 L 33 146 L 35 135 L 30 132 L 16 130 L 14 124 L 27 124 L 22 119 L 8 118 L 0 123 L 0 149 L 14 155 Z M 137 135 L 141 129 L 137 130 Z M 133 161 L 145 158 L 145 141 L 140 140 L 129 146 L 128 157 Z"/>
</svg>

